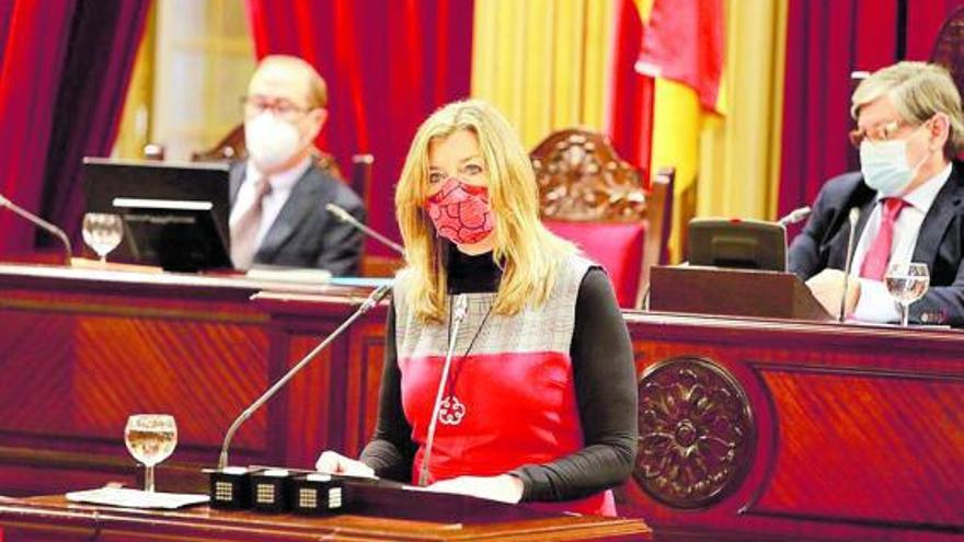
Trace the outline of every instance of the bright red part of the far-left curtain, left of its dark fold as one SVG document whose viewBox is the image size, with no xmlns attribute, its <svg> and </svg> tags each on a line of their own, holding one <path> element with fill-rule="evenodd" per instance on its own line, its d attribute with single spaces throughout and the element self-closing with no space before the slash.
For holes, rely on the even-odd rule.
<svg viewBox="0 0 964 542">
<path fill-rule="evenodd" d="M 0 28 L 0 194 L 37 210 L 74 0 L 18 1 Z M 0 21 L 2 23 L 3 21 Z M 31 247 L 33 229 L 0 209 L 0 254 Z"/>
</svg>

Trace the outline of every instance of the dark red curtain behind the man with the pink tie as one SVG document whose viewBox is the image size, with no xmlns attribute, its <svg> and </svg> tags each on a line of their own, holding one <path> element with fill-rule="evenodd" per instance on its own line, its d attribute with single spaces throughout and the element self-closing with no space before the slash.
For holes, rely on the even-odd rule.
<svg viewBox="0 0 964 542">
<path fill-rule="evenodd" d="M 902 50 L 906 51 L 905 58 L 927 59 L 941 22 L 962 3 L 790 1 L 780 215 L 813 204 L 825 181 L 859 166 L 847 140 L 853 127 L 850 73 L 894 64 Z"/>
</svg>

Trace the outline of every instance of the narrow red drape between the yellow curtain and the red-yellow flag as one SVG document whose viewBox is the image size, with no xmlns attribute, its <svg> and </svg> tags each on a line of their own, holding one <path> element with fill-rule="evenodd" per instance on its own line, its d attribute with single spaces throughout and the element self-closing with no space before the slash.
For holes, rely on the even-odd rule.
<svg viewBox="0 0 964 542">
<path fill-rule="evenodd" d="M 653 78 L 635 70 L 643 23 L 633 0 L 619 1 L 615 24 L 606 131 L 623 160 L 649 172 L 653 150 Z"/>
</svg>

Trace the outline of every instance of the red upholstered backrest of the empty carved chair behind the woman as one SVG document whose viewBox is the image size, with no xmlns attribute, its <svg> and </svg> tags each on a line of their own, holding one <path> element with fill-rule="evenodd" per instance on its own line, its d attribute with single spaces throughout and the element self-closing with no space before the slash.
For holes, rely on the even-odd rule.
<svg viewBox="0 0 964 542">
<path fill-rule="evenodd" d="M 556 235 L 576 243 L 583 254 L 601 265 L 616 288 L 620 307 L 633 307 L 643 265 L 647 222 L 565 222 L 543 220 Z"/>
</svg>

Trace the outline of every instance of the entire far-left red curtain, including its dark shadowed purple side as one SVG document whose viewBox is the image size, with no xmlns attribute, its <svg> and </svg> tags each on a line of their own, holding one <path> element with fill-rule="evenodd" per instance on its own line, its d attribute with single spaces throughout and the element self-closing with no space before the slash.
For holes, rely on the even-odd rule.
<svg viewBox="0 0 964 542">
<path fill-rule="evenodd" d="M 18 0 L 0 8 L 0 193 L 43 208 L 68 233 L 80 229 L 81 158 L 111 151 L 148 5 Z M 34 235 L 0 210 L 0 253 L 28 251 Z"/>
</svg>

